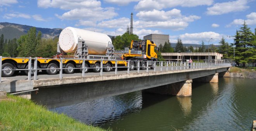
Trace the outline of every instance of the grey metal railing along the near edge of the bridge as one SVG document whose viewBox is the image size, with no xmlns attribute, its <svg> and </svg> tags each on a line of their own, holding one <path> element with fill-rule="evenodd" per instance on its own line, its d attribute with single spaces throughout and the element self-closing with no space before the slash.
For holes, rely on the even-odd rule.
<svg viewBox="0 0 256 131">
<path fill-rule="evenodd" d="M 2 59 L 3 58 L 8 58 L 8 57 L 2 57 L 0 56 L 0 82 L 2 82 L 2 74 L 3 73 L 11 73 L 12 71 L 14 72 L 19 72 L 19 71 L 27 71 L 28 74 L 28 81 L 31 81 L 31 78 L 33 80 L 37 80 L 39 76 L 43 76 L 43 72 L 47 70 L 55 70 L 58 71 L 59 74 L 56 75 L 50 75 L 53 76 L 53 78 L 59 78 L 62 79 L 63 77 L 67 76 L 74 76 L 71 74 L 64 74 L 63 70 L 67 68 L 63 68 L 63 59 L 54 59 L 54 60 L 59 60 L 59 67 L 58 68 L 38 68 L 38 63 L 37 62 L 32 62 L 37 61 L 39 59 L 46 59 L 46 58 L 23 58 L 19 57 L 17 59 L 29 59 L 28 60 L 28 67 L 23 68 L 23 69 L 17 69 L 17 68 L 11 68 L 10 66 L 5 66 L 2 67 Z M 53 58 L 47 58 L 47 59 L 53 59 Z M 65 59 L 68 60 L 68 59 Z M 72 59 L 73 60 L 73 59 Z M 99 59 L 90 59 L 90 60 L 97 60 L 100 61 L 100 66 L 97 67 L 85 67 L 85 59 L 76 59 L 76 60 L 83 60 L 81 67 L 75 67 L 75 68 L 68 68 L 68 69 L 81 69 L 81 73 L 75 73 L 76 76 L 88 76 L 85 75 L 85 70 L 86 69 L 97 69 L 99 72 L 90 74 L 90 75 L 104 75 L 104 74 L 118 74 L 118 71 L 120 71 L 119 74 L 130 74 L 130 73 L 140 73 L 140 72 L 156 72 L 156 71 L 177 71 L 177 70 L 189 70 L 189 69 L 204 69 L 204 68 L 213 68 L 213 67 L 226 67 L 226 66 L 231 66 L 230 63 L 199 63 L 199 62 L 193 62 L 189 64 L 188 62 L 168 62 L 168 61 L 142 61 L 142 60 L 115 60 L 116 64 L 112 64 L 110 67 L 111 72 L 104 72 L 104 69 L 109 68 L 109 67 L 104 67 L 103 61 L 104 60 L 99 60 Z M 114 60 L 112 60 L 114 61 Z M 118 66 L 118 61 L 125 61 L 127 66 Z M 131 65 L 131 62 L 133 62 L 133 65 Z M 152 66 L 149 66 L 152 65 Z M 15 66 L 15 65 L 13 65 Z M 130 67 L 132 66 L 132 67 Z M 125 71 L 126 70 L 126 71 Z M 39 72 L 42 71 L 42 72 Z M 78 75 L 77 75 L 78 74 Z M 64 75 L 64 76 L 63 76 Z M 17 77 L 18 76 L 18 77 Z M 14 79 L 19 80 L 19 76 L 22 76 L 22 74 L 18 74 Z M 41 77 L 42 78 L 42 77 Z M 52 78 L 52 77 L 46 77 L 46 78 Z"/>
</svg>

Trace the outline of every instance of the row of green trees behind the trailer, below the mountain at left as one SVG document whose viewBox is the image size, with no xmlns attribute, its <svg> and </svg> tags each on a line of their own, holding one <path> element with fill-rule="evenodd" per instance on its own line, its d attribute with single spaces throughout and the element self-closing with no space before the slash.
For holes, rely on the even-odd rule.
<svg viewBox="0 0 256 131">
<path fill-rule="evenodd" d="M 31 27 L 26 35 L 19 39 L 0 37 L 0 55 L 3 57 L 52 57 L 56 54 L 58 38 L 42 39 L 42 32 L 36 33 Z"/>
</svg>

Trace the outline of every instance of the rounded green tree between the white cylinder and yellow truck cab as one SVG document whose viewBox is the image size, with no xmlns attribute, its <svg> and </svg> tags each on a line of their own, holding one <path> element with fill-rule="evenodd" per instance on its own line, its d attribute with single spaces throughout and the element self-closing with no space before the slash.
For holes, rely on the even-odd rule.
<svg viewBox="0 0 256 131">
<path fill-rule="evenodd" d="M 125 32 L 123 35 L 118 35 L 113 41 L 116 50 L 123 50 L 125 47 L 131 46 L 131 40 L 138 41 L 138 35 Z"/>
</svg>

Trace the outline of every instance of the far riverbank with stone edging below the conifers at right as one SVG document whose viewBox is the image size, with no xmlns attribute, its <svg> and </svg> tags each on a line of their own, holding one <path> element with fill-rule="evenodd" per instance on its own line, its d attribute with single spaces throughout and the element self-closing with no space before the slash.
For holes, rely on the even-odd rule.
<svg viewBox="0 0 256 131">
<path fill-rule="evenodd" d="M 244 78 L 256 79 L 255 69 L 256 68 L 230 67 L 230 73 L 237 73 L 237 75 L 234 76 L 240 76 L 240 74 L 242 74 Z"/>
</svg>

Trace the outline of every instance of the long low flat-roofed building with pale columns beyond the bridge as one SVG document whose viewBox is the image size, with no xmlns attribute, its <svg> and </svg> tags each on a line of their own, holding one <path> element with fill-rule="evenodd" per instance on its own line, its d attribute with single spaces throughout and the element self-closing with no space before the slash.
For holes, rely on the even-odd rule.
<svg viewBox="0 0 256 131">
<path fill-rule="evenodd" d="M 189 59 L 193 61 L 199 62 L 221 62 L 221 57 L 223 54 L 216 52 L 181 52 L 181 53 L 161 53 L 163 58 L 167 61 L 175 61 L 175 62 L 186 62 Z"/>
</svg>

